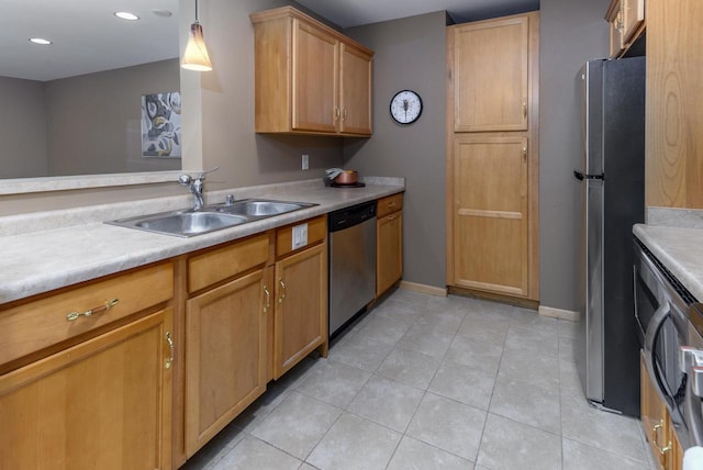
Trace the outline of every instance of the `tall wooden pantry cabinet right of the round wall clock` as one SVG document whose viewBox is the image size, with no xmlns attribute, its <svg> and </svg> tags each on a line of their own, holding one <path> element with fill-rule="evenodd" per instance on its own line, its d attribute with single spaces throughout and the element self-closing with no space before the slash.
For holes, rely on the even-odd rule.
<svg viewBox="0 0 703 470">
<path fill-rule="evenodd" d="M 537 12 L 447 32 L 447 283 L 537 301 Z"/>
</svg>

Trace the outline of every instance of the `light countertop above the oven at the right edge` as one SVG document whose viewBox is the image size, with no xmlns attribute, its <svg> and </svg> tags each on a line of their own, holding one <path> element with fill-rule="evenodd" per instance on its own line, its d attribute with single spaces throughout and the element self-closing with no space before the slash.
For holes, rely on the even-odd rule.
<svg viewBox="0 0 703 470">
<path fill-rule="evenodd" d="M 637 224 L 633 233 L 703 302 L 703 230 Z"/>
</svg>

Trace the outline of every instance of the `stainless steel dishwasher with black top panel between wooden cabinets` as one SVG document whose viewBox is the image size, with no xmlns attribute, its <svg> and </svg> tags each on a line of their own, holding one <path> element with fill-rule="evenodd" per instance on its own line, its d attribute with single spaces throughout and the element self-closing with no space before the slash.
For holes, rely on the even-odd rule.
<svg viewBox="0 0 703 470">
<path fill-rule="evenodd" d="M 330 337 L 376 295 L 376 201 L 331 212 Z"/>
</svg>

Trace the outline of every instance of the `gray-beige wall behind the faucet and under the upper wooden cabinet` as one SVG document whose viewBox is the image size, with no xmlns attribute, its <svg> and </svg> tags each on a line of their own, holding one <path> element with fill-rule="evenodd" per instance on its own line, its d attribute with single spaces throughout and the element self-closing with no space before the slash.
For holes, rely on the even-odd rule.
<svg viewBox="0 0 703 470">
<path fill-rule="evenodd" d="M 254 27 L 249 13 L 287 4 L 304 10 L 282 0 L 199 4 L 213 65 L 212 71 L 200 74 L 202 167 L 220 167 L 209 179 L 210 189 L 322 178 L 326 168 L 342 165 L 341 137 L 254 133 Z M 302 154 L 310 156 L 310 170 L 301 170 Z"/>
</svg>

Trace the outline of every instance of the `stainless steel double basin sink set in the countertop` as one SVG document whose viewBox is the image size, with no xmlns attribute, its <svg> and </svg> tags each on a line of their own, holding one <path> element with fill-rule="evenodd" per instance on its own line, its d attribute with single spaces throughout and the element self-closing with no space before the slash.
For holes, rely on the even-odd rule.
<svg viewBox="0 0 703 470">
<path fill-rule="evenodd" d="M 272 217 L 274 215 L 299 211 L 313 205 L 317 204 L 266 199 L 244 199 L 224 202 L 222 204 L 207 205 L 199 211 L 193 209 L 176 210 L 136 217 L 119 219 L 105 223 L 166 235 L 191 237 Z"/>
</svg>

